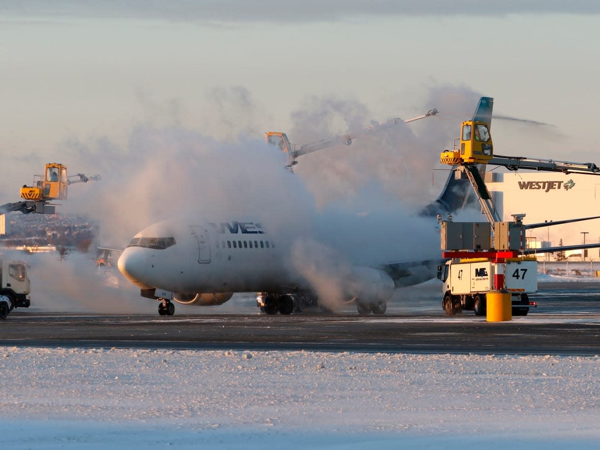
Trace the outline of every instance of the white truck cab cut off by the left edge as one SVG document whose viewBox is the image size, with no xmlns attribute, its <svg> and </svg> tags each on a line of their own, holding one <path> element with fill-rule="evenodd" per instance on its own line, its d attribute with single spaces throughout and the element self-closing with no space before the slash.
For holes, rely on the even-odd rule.
<svg viewBox="0 0 600 450">
<path fill-rule="evenodd" d="M 13 308 L 29 308 L 31 284 L 24 261 L 0 260 L 0 319 L 4 319 Z M 2 317 L 5 305 L 8 312 Z"/>
</svg>

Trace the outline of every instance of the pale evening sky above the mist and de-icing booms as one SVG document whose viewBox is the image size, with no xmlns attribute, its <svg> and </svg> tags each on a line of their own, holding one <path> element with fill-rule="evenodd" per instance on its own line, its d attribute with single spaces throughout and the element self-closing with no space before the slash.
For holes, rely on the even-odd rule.
<svg viewBox="0 0 600 450">
<path fill-rule="evenodd" d="M 439 107 L 446 88 L 553 125 L 494 122 L 499 154 L 599 163 L 599 13 L 584 0 L 0 1 L 3 172 L 29 183 L 69 142 L 126 150 L 141 123 L 262 139 L 315 99 L 385 121 Z M 440 116 L 457 136 L 468 118 Z"/>
</svg>

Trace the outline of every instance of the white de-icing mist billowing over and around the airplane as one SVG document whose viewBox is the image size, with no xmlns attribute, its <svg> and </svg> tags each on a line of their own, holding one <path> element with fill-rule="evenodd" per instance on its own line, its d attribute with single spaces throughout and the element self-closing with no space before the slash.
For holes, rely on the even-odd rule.
<svg viewBox="0 0 600 450">
<path fill-rule="evenodd" d="M 462 120 L 470 118 L 479 95 L 445 87 L 431 97 L 426 109 L 462 113 Z M 251 100 L 244 98 L 244 91 L 234 90 L 215 102 L 245 104 L 252 111 Z M 228 109 L 217 109 L 215 121 L 227 116 Z M 159 122 L 169 122 L 168 110 L 149 115 L 167 111 Z M 418 127 L 401 124 L 351 146 L 305 155 L 290 173 L 284 169 L 286 154 L 266 146 L 262 136 L 213 139 L 177 125 L 179 111 L 173 109 L 170 125 L 146 121 L 134 127 L 125 148 L 110 136 L 65 141 L 70 167 L 102 176 L 100 182 L 70 187 L 67 200 L 68 211 L 100 221 L 101 244 L 122 248 L 140 229 L 167 218 L 260 217 L 281 248 L 289 250 L 290 268 L 323 298 L 332 299 L 332 307 L 343 298 L 341 282 L 352 265 L 439 257 L 436 221 L 415 212 L 439 194 L 440 186 L 431 187 L 431 169 L 440 149 L 458 133 L 457 121 L 428 118 L 416 122 Z M 296 126 L 290 136 L 334 136 L 363 127 L 369 116 L 356 100 L 313 98 L 293 115 Z M 247 123 L 252 121 L 250 117 Z M 46 291 L 32 296 L 58 299 L 62 292 L 61 301 L 80 299 L 83 310 L 127 310 L 130 299 L 140 302 L 140 308 L 155 309 L 133 285 L 115 294 L 96 272 L 91 260 L 69 256 L 57 263 L 41 257 L 32 273 L 35 289 Z"/>
</svg>

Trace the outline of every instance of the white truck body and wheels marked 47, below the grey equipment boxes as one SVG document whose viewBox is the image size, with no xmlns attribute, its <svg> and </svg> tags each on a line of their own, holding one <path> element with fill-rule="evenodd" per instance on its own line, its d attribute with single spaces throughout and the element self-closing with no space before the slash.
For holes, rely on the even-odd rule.
<svg viewBox="0 0 600 450">
<path fill-rule="evenodd" d="M 512 296 L 512 315 L 527 316 L 529 295 L 538 291 L 538 262 L 515 259 L 502 263 L 490 260 L 449 260 L 439 266 L 437 278 L 442 283 L 442 308 L 454 316 L 463 310 L 475 311 L 476 316 L 486 313 L 485 296 L 491 290 L 506 289 Z"/>
</svg>

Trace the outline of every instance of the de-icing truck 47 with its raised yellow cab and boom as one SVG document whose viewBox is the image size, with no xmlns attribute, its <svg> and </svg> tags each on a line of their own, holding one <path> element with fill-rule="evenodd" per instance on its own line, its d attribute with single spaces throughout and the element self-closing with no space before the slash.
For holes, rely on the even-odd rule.
<svg viewBox="0 0 600 450">
<path fill-rule="evenodd" d="M 527 229 L 556 226 L 600 216 L 523 224 L 525 214 L 513 214 L 513 222 L 503 222 L 494 208 L 490 192 L 482 179 L 487 164 L 508 170 L 543 170 L 563 173 L 600 175 L 593 163 L 544 160 L 529 157 L 494 155 L 490 134 L 494 100 L 482 97 L 470 121 L 461 124 L 460 137 L 454 149 L 440 155 L 443 164 L 454 166 L 455 178 L 468 179 L 475 191 L 482 211 L 489 223 L 460 223 L 442 221 L 442 257 L 448 259 L 438 267 L 437 277 L 443 282 L 442 307 L 452 316 L 462 310 L 485 314 L 486 295 L 491 291 L 506 290 L 512 297 L 512 315 L 525 315 L 535 303 L 528 294 L 537 291 L 537 260 L 531 257 L 536 249 L 526 248 Z M 546 252 L 596 248 L 600 244 L 566 245 L 545 248 Z"/>
</svg>

